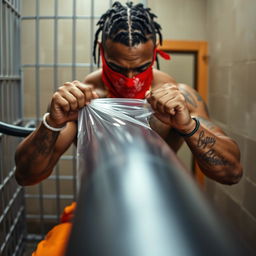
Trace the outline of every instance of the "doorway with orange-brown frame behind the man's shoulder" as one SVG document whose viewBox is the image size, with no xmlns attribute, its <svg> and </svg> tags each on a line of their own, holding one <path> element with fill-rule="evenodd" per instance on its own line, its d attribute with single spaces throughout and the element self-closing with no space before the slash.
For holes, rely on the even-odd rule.
<svg viewBox="0 0 256 256">
<path fill-rule="evenodd" d="M 195 88 L 207 102 L 207 42 L 165 40 L 160 49 L 172 56 L 169 62 L 159 60 L 161 70 L 170 74 L 177 82 Z M 186 144 L 179 150 L 178 156 L 195 174 L 198 183 L 203 185 L 204 176 Z"/>
</svg>

